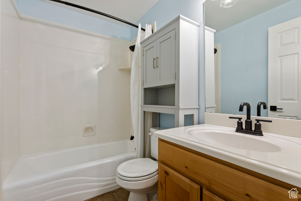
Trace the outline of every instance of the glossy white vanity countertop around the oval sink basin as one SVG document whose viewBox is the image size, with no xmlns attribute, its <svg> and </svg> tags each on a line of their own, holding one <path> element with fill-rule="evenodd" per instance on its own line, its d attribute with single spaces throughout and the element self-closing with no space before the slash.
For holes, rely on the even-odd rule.
<svg viewBox="0 0 301 201">
<path fill-rule="evenodd" d="M 225 130 L 228 133 L 234 132 L 238 136 L 257 138 L 270 142 L 280 147 L 281 150 L 274 150 L 274 152 L 252 151 L 200 140 L 191 134 L 192 130 L 200 127 L 209 130 L 216 128 L 216 130 Z M 154 133 L 154 136 L 301 187 L 301 139 L 271 133 L 263 134 L 264 136 L 254 136 L 237 133 L 234 128 L 230 127 L 200 124 L 159 130 Z"/>
</svg>

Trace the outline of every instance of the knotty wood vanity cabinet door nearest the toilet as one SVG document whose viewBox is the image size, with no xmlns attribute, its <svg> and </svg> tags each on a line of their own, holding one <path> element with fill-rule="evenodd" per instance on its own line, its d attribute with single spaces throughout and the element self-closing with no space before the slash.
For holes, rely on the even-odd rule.
<svg viewBox="0 0 301 201">
<path fill-rule="evenodd" d="M 159 162 L 158 201 L 200 201 L 200 186 Z"/>
</svg>

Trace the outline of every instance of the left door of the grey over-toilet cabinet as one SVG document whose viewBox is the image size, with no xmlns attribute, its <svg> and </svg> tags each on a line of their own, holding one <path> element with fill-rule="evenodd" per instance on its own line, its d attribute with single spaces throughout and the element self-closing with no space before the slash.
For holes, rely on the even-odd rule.
<svg viewBox="0 0 301 201">
<path fill-rule="evenodd" d="M 143 88 L 156 86 L 156 41 L 145 46 L 143 52 Z"/>
</svg>

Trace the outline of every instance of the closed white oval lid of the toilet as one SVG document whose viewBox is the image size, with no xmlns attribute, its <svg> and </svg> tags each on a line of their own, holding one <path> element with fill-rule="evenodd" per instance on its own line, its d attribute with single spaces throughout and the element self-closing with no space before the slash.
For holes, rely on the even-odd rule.
<svg viewBox="0 0 301 201">
<path fill-rule="evenodd" d="M 117 168 L 117 173 L 124 177 L 144 177 L 156 171 L 158 163 L 149 158 L 128 160 Z"/>
</svg>

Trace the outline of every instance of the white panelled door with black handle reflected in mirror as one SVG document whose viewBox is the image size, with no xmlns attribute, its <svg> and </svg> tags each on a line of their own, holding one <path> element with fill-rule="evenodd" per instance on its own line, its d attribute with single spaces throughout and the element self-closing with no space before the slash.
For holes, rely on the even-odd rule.
<svg viewBox="0 0 301 201">
<path fill-rule="evenodd" d="M 301 17 L 268 29 L 269 117 L 301 118 L 300 30 Z"/>
</svg>

